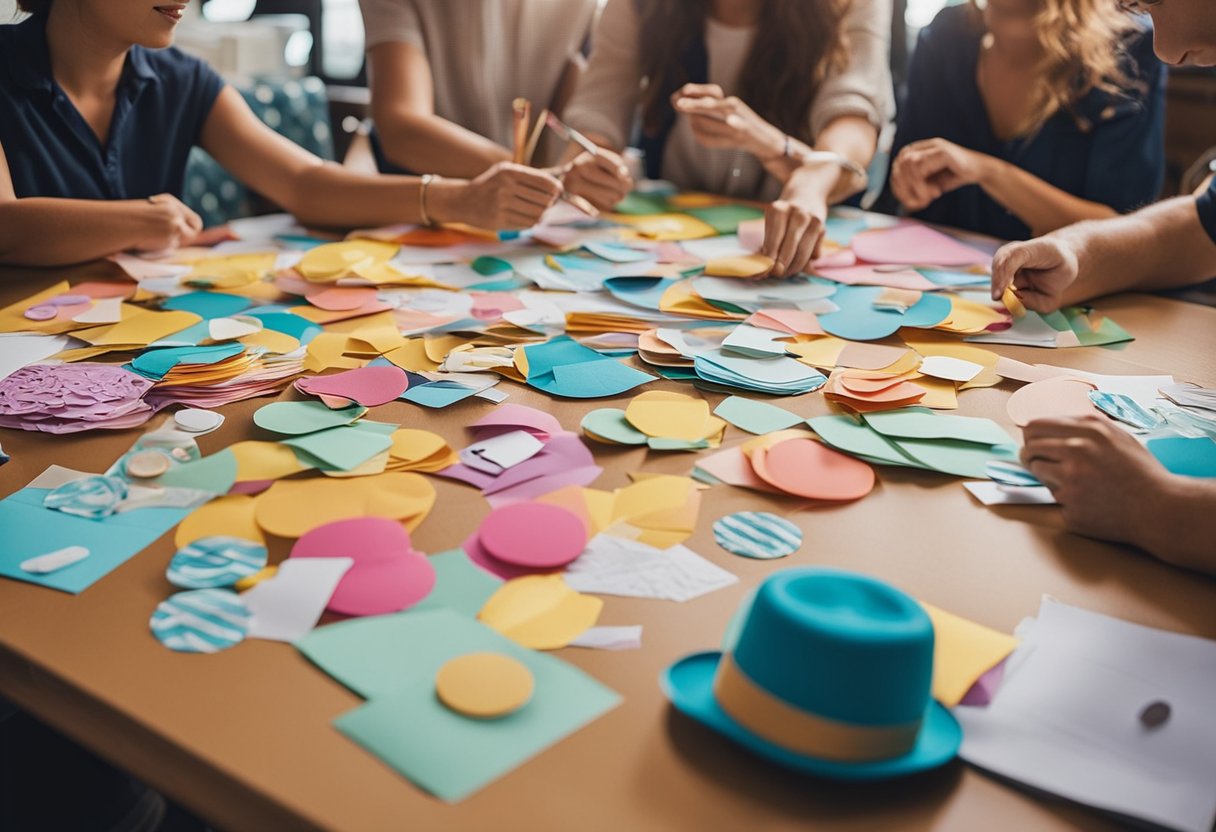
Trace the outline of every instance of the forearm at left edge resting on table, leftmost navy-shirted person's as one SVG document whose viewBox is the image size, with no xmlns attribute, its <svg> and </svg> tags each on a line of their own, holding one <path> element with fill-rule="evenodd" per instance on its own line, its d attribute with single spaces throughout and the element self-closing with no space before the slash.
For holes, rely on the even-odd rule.
<svg viewBox="0 0 1216 832">
<path fill-rule="evenodd" d="M 57 266 L 95 260 L 154 235 L 158 215 L 154 206 L 136 199 L 7 199 L 0 202 L 0 263 Z"/>
</svg>

